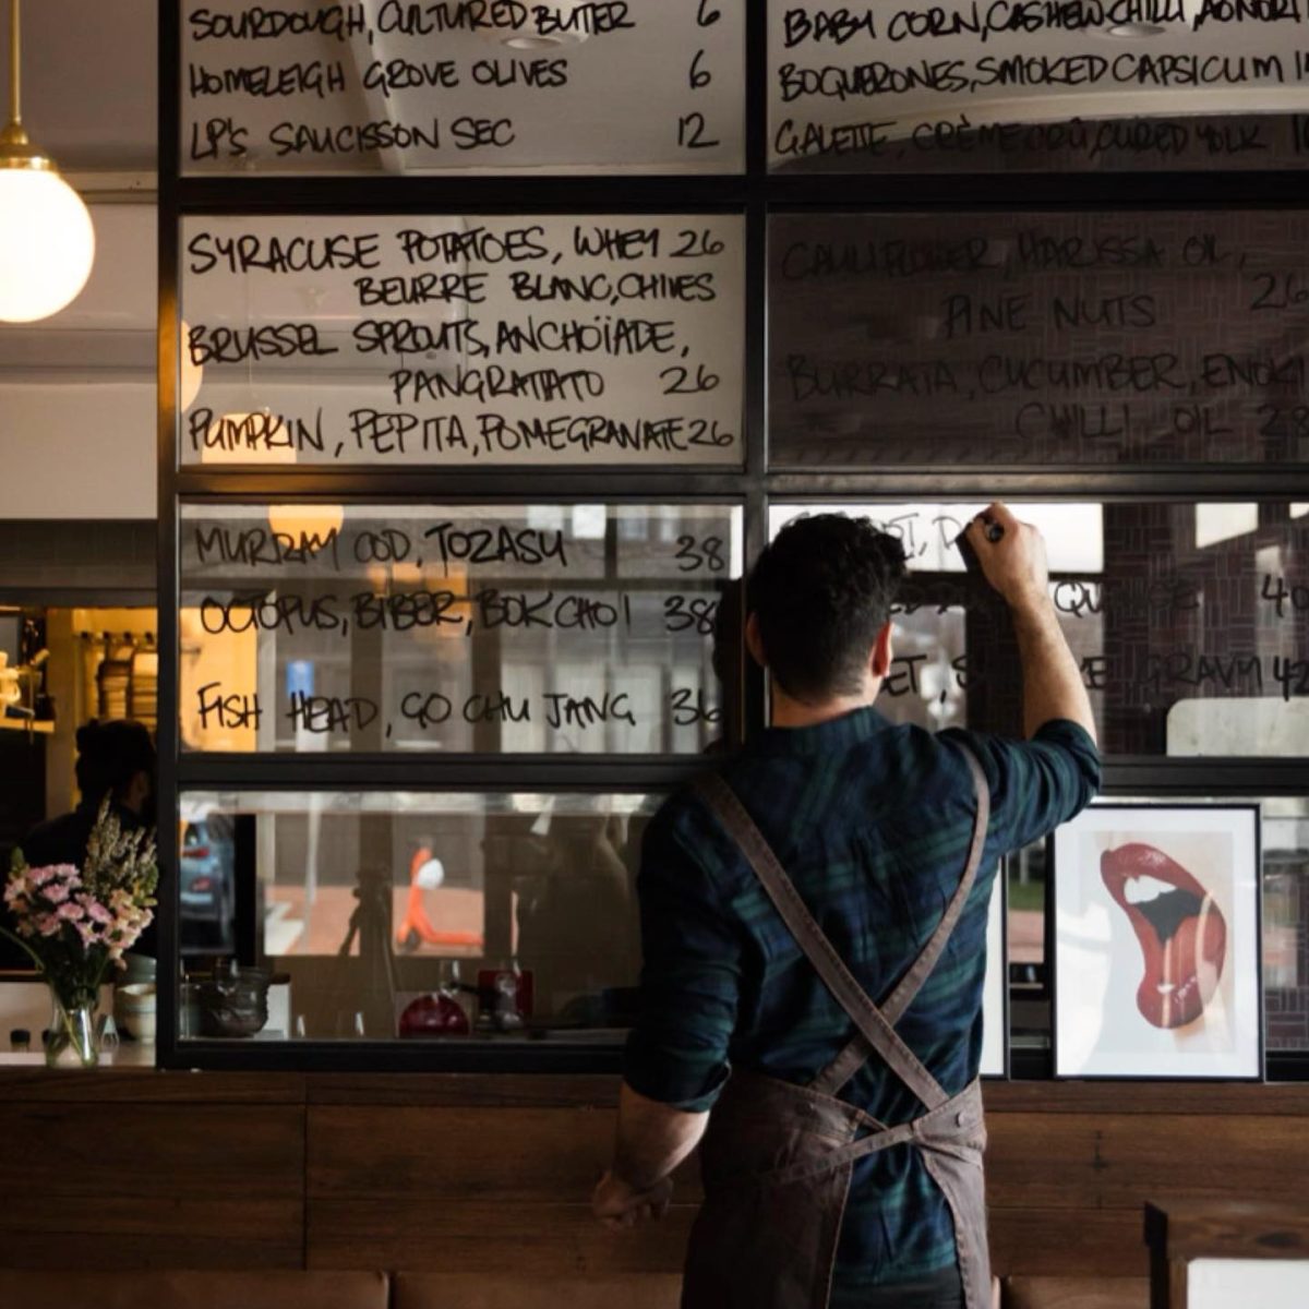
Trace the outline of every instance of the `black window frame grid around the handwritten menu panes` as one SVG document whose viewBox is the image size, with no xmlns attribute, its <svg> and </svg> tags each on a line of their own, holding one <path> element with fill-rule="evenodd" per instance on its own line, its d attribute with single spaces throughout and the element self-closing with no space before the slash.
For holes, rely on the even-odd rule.
<svg viewBox="0 0 1309 1309">
<path fill-rule="evenodd" d="M 190 177 L 181 175 L 182 10 L 160 0 L 158 43 L 158 814 L 160 830 L 175 831 L 183 789 L 352 791 L 432 789 L 462 792 L 562 789 L 651 792 L 690 779 L 698 761 L 664 755 L 453 755 L 382 754 L 255 755 L 179 751 L 178 694 L 178 518 L 183 500 L 241 503 L 270 495 L 288 500 L 394 503 L 569 503 L 675 504 L 730 500 L 745 509 L 745 562 L 767 541 L 774 501 L 822 504 L 840 500 L 931 501 L 994 496 L 1041 500 L 1177 499 L 1189 503 L 1240 500 L 1309 501 L 1309 466 L 1189 465 L 1076 469 L 992 467 L 965 473 L 903 467 L 857 473 L 770 471 L 767 442 L 767 226 L 771 213 L 914 211 L 1086 209 L 1203 211 L 1225 208 L 1309 209 L 1304 171 L 1014 173 L 788 175 L 768 168 L 767 5 L 762 0 L 720 0 L 746 10 L 745 140 L 740 175 L 505 175 L 505 177 Z M 1238 198 L 1238 202 L 1234 199 Z M 211 471 L 181 469 L 177 461 L 179 232 L 190 216 L 364 215 L 364 213 L 737 213 L 745 219 L 746 296 L 744 331 L 745 463 L 740 471 L 694 469 L 632 473 L 605 467 L 514 466 L 499 471 L 326 467 L 296 471 Z M 531 495 L 521 486 L 530 475 Z M 516 484 L 520 490 L 514 491 Z M 686 487 L 691 486 L 687 492 Z M 764 723 L 762 679 L 747 677 L 746 732 Z M 1283 759 L 1109 758 L 1106 797 L 1221 795 L 1258 797 L 1309 795 L 1309 757 Z M 177 852 L 160 851 L 164 894 L 158 931 L 164 966 L 158 986 L 157 1062 L 164 1068 L 614 1072 L 615 1047 L 548 1047 L 524 1042 L 486 1050 L 435 1043 L 300 1041 L 268 1045 L 179 1041 L 179 959 L 175 894 Z M 1049 1055 L 1020 1052 L 1012 1077 L 1047 1077 Z M 1271 1052 L 1271 1080 L 1309 1081 L 1309 1051 Z"/>
</svg>

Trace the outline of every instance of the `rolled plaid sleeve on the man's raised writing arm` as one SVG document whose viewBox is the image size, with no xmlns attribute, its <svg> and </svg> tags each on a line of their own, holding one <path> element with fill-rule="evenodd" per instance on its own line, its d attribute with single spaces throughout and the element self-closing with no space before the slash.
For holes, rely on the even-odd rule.
<svg viewBox="0 0 1309 1309">
<path fill-rule="evenodd" d="M 977 755 L 991 787 L 991 831 L 1018 850 L 1081 813 L 1100 791 L 1100 751 L 1085 728 L 1051 719 L 1030 741 L 948 732 Z"/>
</svg>

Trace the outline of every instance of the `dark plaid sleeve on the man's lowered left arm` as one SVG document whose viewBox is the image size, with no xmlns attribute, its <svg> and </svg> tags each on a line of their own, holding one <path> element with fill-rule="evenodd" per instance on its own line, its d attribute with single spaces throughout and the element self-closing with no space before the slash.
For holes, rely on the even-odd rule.
<svg viewBox="0 0 1309 1309">
<path fill-rule="evenodd" d="M 703 1113 L 730 1071 L 741 940 L 717 903 L 711 876 L 668 810 L 647 829 L 637 894 L 641 1003 L 623 1077 L 649 1100 Z"/>
</svg>

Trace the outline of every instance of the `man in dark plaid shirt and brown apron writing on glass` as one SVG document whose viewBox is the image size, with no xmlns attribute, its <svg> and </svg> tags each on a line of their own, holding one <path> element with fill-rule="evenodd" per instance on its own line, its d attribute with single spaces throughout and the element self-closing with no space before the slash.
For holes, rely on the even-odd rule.
<svg viewBox="0 0 1309 1309">
<path fill-rule="evenodd" d="M 903 552 L 801 518 L 746 586 L 772 725 L 647 831 L 641 1017 L 593 1203 L 660 1216 L 703 1138 L 683 1309 L 990 1304 L 988 902 L 1001 856 L 1090 801 L 1100 757 L 1039 533 L 995 504 L 966 535 L 1013 617 L 1026 741 L 882 717 Z"/>
</svg>

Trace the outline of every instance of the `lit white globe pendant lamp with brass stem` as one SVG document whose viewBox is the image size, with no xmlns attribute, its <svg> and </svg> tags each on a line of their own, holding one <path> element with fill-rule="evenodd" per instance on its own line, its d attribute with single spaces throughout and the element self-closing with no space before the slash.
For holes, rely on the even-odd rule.
<svg viewBox="0 0 1309 1309">
<path fill-rule="evenodd" d="M 59 313 L 86 285 L 96 229 L 81 196 L 22 130 L 18 0 L 9 0 L 9 122 L 0 130 L 0 321 Z"/>
</svg>

